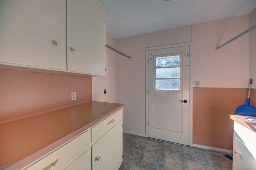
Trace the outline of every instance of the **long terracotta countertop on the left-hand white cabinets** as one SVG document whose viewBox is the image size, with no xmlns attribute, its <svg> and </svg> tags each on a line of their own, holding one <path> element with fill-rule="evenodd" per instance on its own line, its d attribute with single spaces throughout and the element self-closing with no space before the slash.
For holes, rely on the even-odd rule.
<svg viewBox="0 0 256 170">
<path fill-rule="evenodd" d="M 86 102 L 0 124 L 0 169 L 19 169 L 124 107 Z"/>
</svg>

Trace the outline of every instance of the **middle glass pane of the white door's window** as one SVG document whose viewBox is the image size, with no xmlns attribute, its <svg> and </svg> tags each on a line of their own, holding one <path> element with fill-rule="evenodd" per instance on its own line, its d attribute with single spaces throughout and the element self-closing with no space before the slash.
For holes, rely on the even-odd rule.
<svg viewBox="0 0 256 170">
<path fill-rule="evenodd" d="M 156 78 L 180 78 L 180 67 L 156 68 Z"/>
</svg>

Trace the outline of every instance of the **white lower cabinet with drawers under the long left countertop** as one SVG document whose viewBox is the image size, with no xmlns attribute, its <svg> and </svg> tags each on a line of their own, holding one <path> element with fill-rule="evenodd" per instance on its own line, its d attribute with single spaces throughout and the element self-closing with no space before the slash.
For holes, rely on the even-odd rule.
<svg viewBox="0 0 256 170">
<path fill-rule="evenodd" d="M 122 109 L 22 170 L 118 170 L 122 164 Z"/>
</svg>

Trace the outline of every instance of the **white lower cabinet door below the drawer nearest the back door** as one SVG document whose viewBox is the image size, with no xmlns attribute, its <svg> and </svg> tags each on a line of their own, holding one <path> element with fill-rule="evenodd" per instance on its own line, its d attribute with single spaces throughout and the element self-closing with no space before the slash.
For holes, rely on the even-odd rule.
<svg viewBox="0 0 256 170">
<path fill-rule="evenodd" d="M 122 120 L 92 145 L 92 170 L 118 170 L 122 164 Z"/>
</svg>

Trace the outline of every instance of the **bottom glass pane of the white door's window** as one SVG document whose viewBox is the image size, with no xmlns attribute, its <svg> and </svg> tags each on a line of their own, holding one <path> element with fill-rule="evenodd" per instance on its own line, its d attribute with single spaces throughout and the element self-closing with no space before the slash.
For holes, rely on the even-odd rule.
<svg viewBox="0 0 256 170">
<path fill-rule="evenodd" d="M 156 80 L 156 90 L 180 90 L 180 80 Z"/>
</svg>

